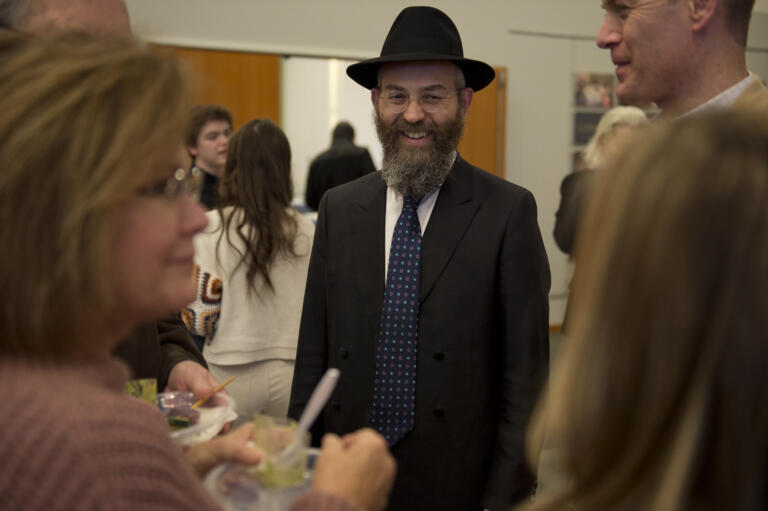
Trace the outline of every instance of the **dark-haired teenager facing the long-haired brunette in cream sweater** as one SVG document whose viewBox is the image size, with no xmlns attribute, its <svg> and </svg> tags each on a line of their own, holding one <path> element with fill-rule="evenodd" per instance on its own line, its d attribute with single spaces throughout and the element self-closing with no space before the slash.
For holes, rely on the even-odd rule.
<svg viewBox="0 0 768 511">
<path fill-rule="evenodd" d="M 187 129 L 187 151 L 192 164 L 203 171 L 200 202 L 215 209 L 221 202 L 219 180 L 227 161 L 227 147 L 232 135 L 232 114 L 219 105 L 197 105 L 192 109 Z"/>
</svg>

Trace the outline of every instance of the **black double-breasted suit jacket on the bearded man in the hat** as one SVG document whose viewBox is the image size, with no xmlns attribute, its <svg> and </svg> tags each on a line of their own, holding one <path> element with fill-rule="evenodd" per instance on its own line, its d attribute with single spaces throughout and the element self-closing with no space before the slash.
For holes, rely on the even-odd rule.
<svg viewBox="0 0 768 511">
<path fill-rule="evenodd" d="M 379 173 L 320 206 L 289 415 L 327 367 L 341 378 L 313 429 L 369 426 L 384 297 Z M 422 238 L 415 429 L 393 447 L 390 509 L 508 509 L 530 495 L 528 418 L 547 376 L 550 277 L 527 190 L 457 158 Z"/>
</svg>

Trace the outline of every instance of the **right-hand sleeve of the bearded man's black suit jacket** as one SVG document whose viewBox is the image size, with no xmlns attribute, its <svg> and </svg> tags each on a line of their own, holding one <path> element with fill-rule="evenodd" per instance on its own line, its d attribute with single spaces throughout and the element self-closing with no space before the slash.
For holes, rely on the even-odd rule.
<svg viewBox="0 0 768 511">
<path fill-rule="evenodd" d="M 525 435 L 549 371 L 550 273 L 530 192 L 513 209 L 501 250 L 501 419 L 483 499 L 491 511 L 508 509 L 535 489 L 525 458 Z"/>
</svg>

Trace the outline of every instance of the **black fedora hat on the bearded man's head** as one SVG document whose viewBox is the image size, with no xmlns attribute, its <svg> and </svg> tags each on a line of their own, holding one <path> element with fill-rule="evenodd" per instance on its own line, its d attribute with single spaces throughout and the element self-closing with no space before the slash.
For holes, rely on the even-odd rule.
<svg viewBox="0 0 768 511">
<path fill-rule="evenodd" d="M 456 25 L 434 7 L 406 7 L 397 15 L 381 55 L 347 68 L 347 75 L 367 89 L 377 85 L 379 67 L 387 62 L 447 60 L 463 72 L 467 87 L 478 91 L 496 76 L 485 62 L 464 58 L 464 48 Z"/>
</svg>

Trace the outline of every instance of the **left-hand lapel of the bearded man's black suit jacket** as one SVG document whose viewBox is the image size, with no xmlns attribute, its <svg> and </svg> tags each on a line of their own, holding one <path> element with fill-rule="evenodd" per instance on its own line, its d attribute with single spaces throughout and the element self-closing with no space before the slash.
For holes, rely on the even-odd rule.
<svg viewBox="0 0 768 511">
<path fill-rule="evenodd" d="M 351 221 L 355 243 L 359 247 L 355 262 L 361 292 L 359 299 L 365 300 L 371 335 L 375 337 L 384 301 L 384 211 L 387 187 L 381 178 L 371 179 L 369 184 L 355 200 L 358 214 Z"/>
</svg>

